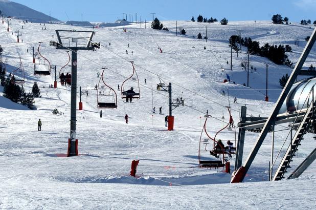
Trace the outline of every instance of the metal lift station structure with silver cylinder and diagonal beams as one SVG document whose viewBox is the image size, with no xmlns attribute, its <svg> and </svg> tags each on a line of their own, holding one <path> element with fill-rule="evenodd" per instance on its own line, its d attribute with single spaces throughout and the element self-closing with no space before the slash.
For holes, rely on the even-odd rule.
<svg viewBox="0 0 316 210">
<path fill-rule="evenodd" d="M 307 132 L 315 133 L 316 128 L 316 72 L 302 70 L 304 62 L 310 53 L 316 41 L 316 28 L 312 32 L 294 70 L 289 76 L 285 87 L 279 96 L 278 101 L 267 118 L 258 119 L 256 117 L 246 117 L 246 107 L 241 107 L 241 115 L 239 122 L 239 134 L 236 148 L 236 160 L 234 176 L 231 183 L 243 181 L 247 171 L 250 169 L 260 146 L 268 132 L 272 131 L 272 150 L 271 160 L 269 163 L 269 180 L 281 180 L 285 178 L 285 173 L 291 168 L 290 163 L 298 151 L 299 145 L 303 143 L 303 136 Z M 297 83 L 298 76 L 311 76 L 310 78 L 303 79 Z M 275 125 L 282 123 L 290 123 L 290 128 L 286 139 L 284 140 L 281 149 L 279 150 L 276 158 L 274 159 L 274 135 Z M 257 141 L 242 164 L 243 144 L 245 131 L 251 129 L 260 129 L 261 132 Z M 282 149 L 285 147 L 285 152 Z M 282 157 L 283 155 L 283 157 Z M 280 160 L 278 157 L 281 157 Z M 306 157 L 305 160 L 287 177 L 292 179 L 299 177 L 307 167 L 316 159 L 316 146 L 315 149 Z M 274 171 L 274 165 L 279 164 Z"/>
</svg>

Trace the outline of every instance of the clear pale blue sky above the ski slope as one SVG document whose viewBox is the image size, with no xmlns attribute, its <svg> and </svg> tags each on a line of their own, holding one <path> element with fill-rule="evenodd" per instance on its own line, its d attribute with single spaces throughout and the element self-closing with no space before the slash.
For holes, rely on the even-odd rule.
<svg viewBox="0 0 316 210">
<path fill-rule="evenodd" d="M 288 17 L 291 22 L 301 19 L 316 20 L 316 0 L 13 0 L 37 11 L 51 15 L 60 20 L 83 20 L 90 22 L 114 22 L 122 19 L 123 13 L 137 13 L 137 20 L 151 20 L 150 13 L 160 20 L 189 20 L 201 14 L 217 19 L 226 17 L 228 20 L 270 20 L 273 14 Z"/>
</svg>

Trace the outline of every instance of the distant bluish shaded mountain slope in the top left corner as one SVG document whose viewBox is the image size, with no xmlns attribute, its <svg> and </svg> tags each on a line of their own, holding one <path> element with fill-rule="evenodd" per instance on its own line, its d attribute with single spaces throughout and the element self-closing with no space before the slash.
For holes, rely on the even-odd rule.
<svg viewBox="0 0 316 210">
<path fill-rule="evenodd" d="M 33 10 L 27 6 L 11 2 L 8 0 L 0 0 L 0 11 L 5 16 L 17 17 L 19 19 L 29 20 L 34 23 L 47 23 L 50 20 L 56 21 L 58 19 L 46 15 L 42 12 Z"/>
</svg>

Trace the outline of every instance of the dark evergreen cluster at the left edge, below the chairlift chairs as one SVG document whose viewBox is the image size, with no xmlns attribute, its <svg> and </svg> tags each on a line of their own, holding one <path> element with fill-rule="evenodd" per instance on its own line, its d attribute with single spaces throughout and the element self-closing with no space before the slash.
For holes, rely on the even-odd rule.
<svg viewBox="0 0 316 210">
<path fill-rule="evenodd" d="M 7 78 L 1 79 L 4 86 L 4 97 L 9 98 L 15 103 L 21 103 L 29 109 L 33 109 L 35 105 L 34 96 L 32 93 L 26 93 L 23 86 L 18 86 L 11 82 L 11 75 Z"/>
</svg>

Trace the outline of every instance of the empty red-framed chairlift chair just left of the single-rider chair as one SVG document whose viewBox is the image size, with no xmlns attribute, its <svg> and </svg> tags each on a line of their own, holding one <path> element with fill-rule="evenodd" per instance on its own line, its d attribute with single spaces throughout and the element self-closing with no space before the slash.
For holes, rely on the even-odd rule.
<svg viewBox="0 0 316 210">
<path fill-rule="evenodd" d="M 103 73 L 106 68 L 103 68 L 99 83 L 98 83 L 98 89 L 97 89 L 97 103 L 98 103 L 98 109 L 115 109 L 118 107 L 117 101 L 118 97 L 111 87 L 106 85 L 103 79 Z M 102 82 L 101 82 L 102 80 Z M 103 85 L 103 84 L 104 85 Z M 106 89 L 108 88 L 108 91 Z M 101 92 L 102 90 L 102 92 Z M 100 94 L 101 93 L 101 94 Z"/>
</svg>

